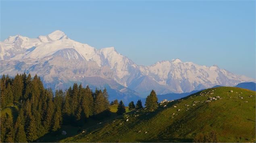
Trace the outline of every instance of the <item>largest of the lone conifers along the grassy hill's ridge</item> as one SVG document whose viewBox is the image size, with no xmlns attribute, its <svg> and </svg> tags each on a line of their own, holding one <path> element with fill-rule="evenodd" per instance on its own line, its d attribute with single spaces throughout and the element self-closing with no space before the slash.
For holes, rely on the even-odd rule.
<svg viewBox="0 0 256 143">
<path fill-rule="evenodd" d="M 157 97 L 156 97 L 156 92 L 154 90 L 151 91 L 150 95 L 147 97 L 146 99 L 146 108 L 149 111 L 154 111 L 155 109 L 157 109 L 158 105 L 157 105 Z"/>
</svg>

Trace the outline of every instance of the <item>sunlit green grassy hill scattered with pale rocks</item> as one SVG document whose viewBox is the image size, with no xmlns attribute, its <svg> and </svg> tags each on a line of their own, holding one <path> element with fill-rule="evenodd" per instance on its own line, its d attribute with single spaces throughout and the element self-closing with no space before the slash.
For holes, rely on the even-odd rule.
<svg viewBox="0 0 256 143">
<path fill-rule="evenodd" d="M 211 131 L 219 142 L 255 142 L 255 92 L 206 89 L 159 104 L 154 112 L 132 111 L 84 130 L 60 142 L 192 142 Z"/>
</svg>

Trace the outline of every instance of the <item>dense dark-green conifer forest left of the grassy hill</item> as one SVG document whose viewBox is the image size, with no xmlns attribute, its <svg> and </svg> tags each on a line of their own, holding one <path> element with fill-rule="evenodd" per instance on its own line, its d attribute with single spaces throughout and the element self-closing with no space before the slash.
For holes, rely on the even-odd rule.
<svg viewBox="0 0 256 143">
<path fill-rule="evenodd" d="M 106 89 L 94 92 L 74 83 L 66 91 L 45 89 L 40 77 L 16 75 L 1 78 L 1 110 L 18 106 L 17 117 L 1 115 L 1 142 L 33 142 L 61 125 L 81 126 L 88 118 L 110 116 Z"/>
</svg>

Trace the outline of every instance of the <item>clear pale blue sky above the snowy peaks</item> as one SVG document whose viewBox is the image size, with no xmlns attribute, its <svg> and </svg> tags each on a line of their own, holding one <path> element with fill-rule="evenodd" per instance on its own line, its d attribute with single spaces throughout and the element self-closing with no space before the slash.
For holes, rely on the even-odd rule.
<svg viewBox="0 0 256 143">
<path fill-rule="evenodd" d="M 137 64 L 180 58 L 255 78 L 252 1 L 1 1 L 1 41 L 61 30 Z"/>
</svg>

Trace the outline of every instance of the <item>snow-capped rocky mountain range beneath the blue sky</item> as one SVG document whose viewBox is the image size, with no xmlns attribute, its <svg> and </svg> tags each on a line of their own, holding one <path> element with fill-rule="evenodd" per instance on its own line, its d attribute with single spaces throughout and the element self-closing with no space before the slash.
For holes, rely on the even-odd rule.
<svg viewBox="0 0 256 143">
<path fill-rule="evenodd" d="M 0 42 L 0 64 L 0 74 L 37 74 L 53 89 L 67 89 L 74 82 L 108 87 L 120 99 L 145 96 L 152 89 L 158 94 L 184 93 L 255 81 L 216 65 L 200 66 L 179 59 L 140 66 L 114 47 L 97 50 L 59 30 L 38 38 L 10 36 Z"/>
</svg>

